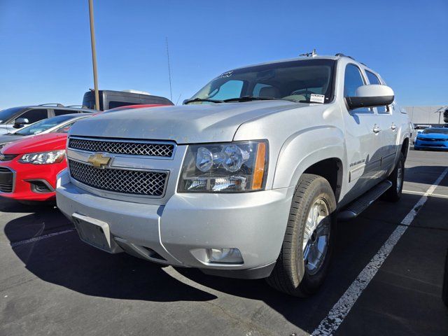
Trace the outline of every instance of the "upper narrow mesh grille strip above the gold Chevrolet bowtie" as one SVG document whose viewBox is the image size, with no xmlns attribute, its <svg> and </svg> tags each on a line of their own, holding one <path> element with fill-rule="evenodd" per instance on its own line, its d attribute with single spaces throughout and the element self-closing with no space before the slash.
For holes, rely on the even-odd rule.
<svg viewBox="0 0 448 336">
<path fill-rule="evenodd" d="M 69 148 L 89 152 L 172 158 L 174 144 L 151 141 L 70 138 Z"/>
</svg>

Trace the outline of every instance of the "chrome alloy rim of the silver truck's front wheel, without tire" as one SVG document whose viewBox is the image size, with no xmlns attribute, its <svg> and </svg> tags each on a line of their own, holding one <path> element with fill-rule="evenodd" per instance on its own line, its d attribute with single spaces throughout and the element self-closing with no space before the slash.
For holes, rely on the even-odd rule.
<svg viewBox="0 0 448 336">
<path fill-rule="evenodd" d="M 305 271 L 316 274 L 328 251 L 330 239 L 330 209 L 322 198 L 316 200 L 309 209 L 303 235 L 303 260 Z"/>
</svg>

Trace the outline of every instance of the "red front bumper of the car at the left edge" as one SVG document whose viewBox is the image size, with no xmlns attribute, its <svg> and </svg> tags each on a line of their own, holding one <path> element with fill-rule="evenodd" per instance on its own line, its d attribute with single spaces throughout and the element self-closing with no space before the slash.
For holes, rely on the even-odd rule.
<svg viewBox="0 0 448 336">
<path fill-rule="evenodd" d="M 1 197 L 21 201 L 51 201 L 55 200 L 56 176 L 66 168 L 65 161 L 51 165 L 31 165 L 18 162 L 18 158 L 0 162 L 0 167 L 13 172 L 12 192 L 2 193 Z M 36 183 L 46 186 L 48 191 L 41 191 Z"/>
</svg>

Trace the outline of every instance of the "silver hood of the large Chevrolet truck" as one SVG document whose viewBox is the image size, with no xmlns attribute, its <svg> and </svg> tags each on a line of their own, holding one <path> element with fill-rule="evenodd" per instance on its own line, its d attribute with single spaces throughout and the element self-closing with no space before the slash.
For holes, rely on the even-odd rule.
<svg viewBox="0 0 448 336">
<path fill-rule="evenodd" d="M 162 106 L 104 113 L 76 122 L 70 135 L 172 140 L 177 144 L 232 141 L 253 118 L 309 106 L 288 101 Z"/>
</svg>

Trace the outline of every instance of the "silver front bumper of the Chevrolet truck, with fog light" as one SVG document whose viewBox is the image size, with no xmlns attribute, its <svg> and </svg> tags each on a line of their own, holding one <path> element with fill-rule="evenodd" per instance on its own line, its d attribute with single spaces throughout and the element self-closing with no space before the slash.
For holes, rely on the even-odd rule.
<svg viewBox="0 0 448 336">
<path fill-rule="evenodd" d="M 57 207 L 72 221 L 80 214 L 109 224 L 111 239 L 140 258 L 260 278 L 269 275 L 279 255 L 293 192 L 175 193 L 165 205 L 141 204 L 87 193 L 64 171 L 57 180 Z M 244 262 L 206 262 L 194 253 L 202 248 L 238 248 Z"/>
</svg>

